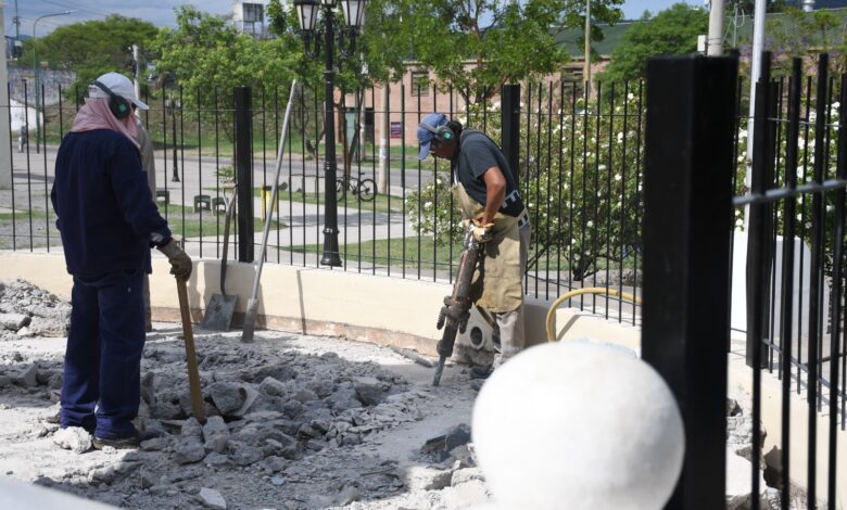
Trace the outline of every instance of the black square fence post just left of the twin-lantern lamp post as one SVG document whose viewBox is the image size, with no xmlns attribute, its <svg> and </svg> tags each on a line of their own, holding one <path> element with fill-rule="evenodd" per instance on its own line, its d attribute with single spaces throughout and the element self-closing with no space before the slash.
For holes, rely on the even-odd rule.
<svg viewBox="0 0 847 510">
<path fill-rule="evenodd" d="M 253 262 L 253 93 L 236 87 L 236 182 L 238 183 L 238 262 Z"/>
</svg>

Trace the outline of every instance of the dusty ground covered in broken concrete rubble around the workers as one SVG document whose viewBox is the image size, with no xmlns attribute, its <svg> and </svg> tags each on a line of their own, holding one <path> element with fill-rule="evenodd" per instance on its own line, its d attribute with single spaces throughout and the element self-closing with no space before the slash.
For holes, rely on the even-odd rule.
<svg viewBox="0 0 847 510">
<path fill-rule="evenodd" d="M 189 418 L 180 333 L 156 323 L 144 348 L 138 425 L 160 437 L 138 450 L 84 452 L 58 446 L 49 421 L 65 337 L 3 336 L 0 475 L 139 509 L 453 509 L 489 500 L 467 444 L 476 392 L 460 367 L 448 366 L 432 387 L 431 368 L 378 345 L 274 331 L 242 344 L 240 332 L 197 331 L 213 417 L 201 428 Z"/>
</svg>

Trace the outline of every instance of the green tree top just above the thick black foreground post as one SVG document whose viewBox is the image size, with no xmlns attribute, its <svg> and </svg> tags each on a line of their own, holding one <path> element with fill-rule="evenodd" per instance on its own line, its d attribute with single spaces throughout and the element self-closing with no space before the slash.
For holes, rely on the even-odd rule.
<svg viewBox="0 0 847 510">
<path fill-rule="evenodd" d="M 697 51 L 697 36 L 706 34 L 708 25 L 707 11 L 685 3 L 674 3 L 655 17 L 645 12 L 611 52 L 611 63 L 602 79 L 623 81 L 643 78 L 647 59 Z"/>
</svg>

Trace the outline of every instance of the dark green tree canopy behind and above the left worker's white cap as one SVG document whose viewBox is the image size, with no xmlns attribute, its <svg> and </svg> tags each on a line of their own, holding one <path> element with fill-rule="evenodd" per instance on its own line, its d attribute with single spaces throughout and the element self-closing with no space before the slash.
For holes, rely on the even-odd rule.
<svg viewBox="0 0 847 510">
<path fill-rule="evenodd" d="M 64 25 L 48 36 L 25 41 L 21 62 L 33 62 L 34 44 L 37 44 L 40 62 L 53 68 L 76 71 L 77 84 L 84 90 L 103 73 L 128 73 L 132 44 L 150 48 L 157 31 L 151 23 L 112 14 L 102 21 Z"/>
</svg>

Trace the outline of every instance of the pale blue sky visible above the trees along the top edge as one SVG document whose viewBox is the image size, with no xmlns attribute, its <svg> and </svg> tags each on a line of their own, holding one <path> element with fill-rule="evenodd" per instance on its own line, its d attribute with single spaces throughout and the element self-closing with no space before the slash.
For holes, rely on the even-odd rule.
<svg viewBox="0 0 847 510">
<path fill-rule="evenodd" d="M 214 14 L 229 14 L 231 12 L 231 0 L 140 0 L 128 2 L 127 0 L 0 0 L 5 3 L 3 12 L 3 23 L 5 34 L 13 36 L 15 26 L 13 17 L 15 16 L 15 4 L 21 17 L 20 31 L 22 35 L 33 35 L 33 23 L 38 16 L 43 14 L 61 13 L 64 11 L 76 10 L 77 12 L 41 18 L 36 29 L 37 36 L 43 36 L 55 29 L 55 27 L 78 23 L 85 20 L 102 20 L 110 13 L 121 13 L 129 17 L 139 17 L 151 22 L 156 26 L 174 26 L 176 23 L 174 8 L 184 3 L 194 3 L 200 5 L 203 11 Z M 674 0 L 625 0 L 623 3 L 623 14 L 628 20 L 641 17 L 645 10 L 653 13 L 667 9 Z M 703 1 L 685 0 L 685 3 L 692 5 L 703 5 Z"/>
</svg>

